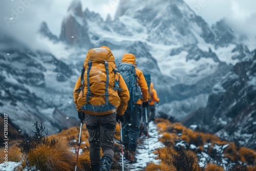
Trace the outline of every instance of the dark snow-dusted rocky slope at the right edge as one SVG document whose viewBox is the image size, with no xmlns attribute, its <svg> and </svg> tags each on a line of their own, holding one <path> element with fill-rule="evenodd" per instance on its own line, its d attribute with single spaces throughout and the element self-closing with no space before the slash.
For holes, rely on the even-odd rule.
<svg viewBox="0 0 256 171">
<path fill-rule="evenodd" d="M 256 148 L 256 51 L 233 66 L 211 90 L 208 103 L 183 123 Z M 200 118 L 200 119 L 199 119 Z"/>
</svg>

